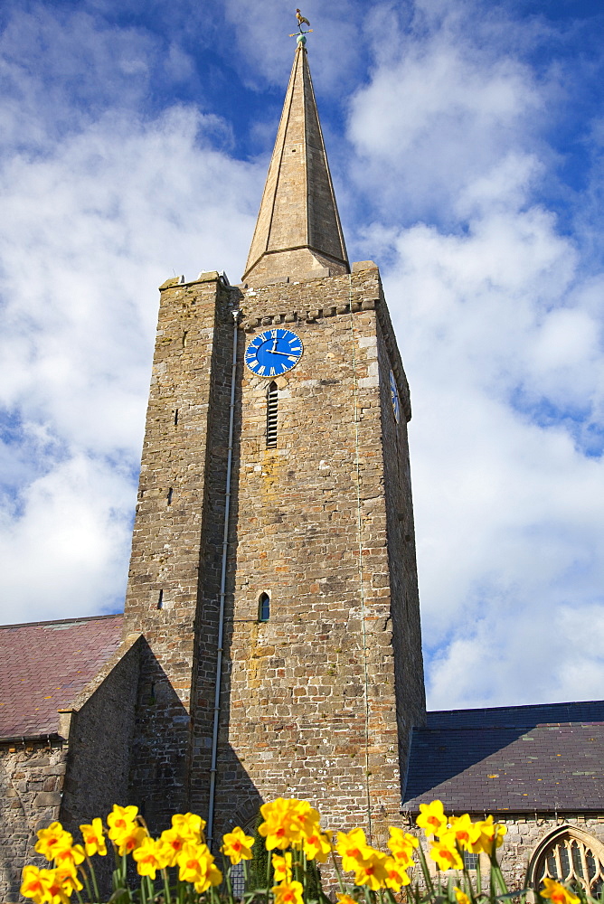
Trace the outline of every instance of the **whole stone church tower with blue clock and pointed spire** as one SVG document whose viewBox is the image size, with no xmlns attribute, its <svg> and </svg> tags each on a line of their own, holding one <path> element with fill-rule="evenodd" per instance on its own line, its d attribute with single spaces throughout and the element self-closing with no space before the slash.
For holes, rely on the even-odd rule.
<svg viewBox="0 0 604 904">
<path fill-rule="evenodd" d="M 349 266 L 303 36 L 243 282 L 168 280 L 125 611 L 145 637 L 132 798 L 219 838 L 300 796 L 398 822 L 425 700 L 409 390 Z"/>
</svg>

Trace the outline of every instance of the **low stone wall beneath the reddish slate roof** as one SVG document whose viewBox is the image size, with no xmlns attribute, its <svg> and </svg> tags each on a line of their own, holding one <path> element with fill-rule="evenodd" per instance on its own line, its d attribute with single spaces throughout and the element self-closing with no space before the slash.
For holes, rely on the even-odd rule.
<svg viewBox="0 0 604 904">
<path fill-rule="evenodd" d="M 33 851 L 38 829 L 59 818 L 66 747 L 61 739 L 24 741 L 0 749 L 0 900 L 21 900 L 26 863 L 46 862 Z"/>
</svg>

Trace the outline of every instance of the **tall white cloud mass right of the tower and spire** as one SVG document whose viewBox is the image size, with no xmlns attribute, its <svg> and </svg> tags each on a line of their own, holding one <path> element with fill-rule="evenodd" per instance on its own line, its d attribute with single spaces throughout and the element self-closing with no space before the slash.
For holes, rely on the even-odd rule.
<svg viewBox="0 0 604 904">
<path fill-rule="evenodd" d="M 552 87 L 463 9 L 391 43 L 350 122 L 411 382 L 429 703 L 599 696 L 601 278 L 538 200 Z"/>
</svg>

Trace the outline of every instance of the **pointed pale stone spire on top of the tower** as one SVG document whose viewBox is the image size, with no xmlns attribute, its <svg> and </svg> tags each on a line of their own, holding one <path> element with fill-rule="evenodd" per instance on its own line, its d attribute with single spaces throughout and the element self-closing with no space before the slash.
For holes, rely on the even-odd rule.
<svg viewBox="0 0 604 904">
<path fill-rule="evenodd" d="M 307 51 L 298 39 L 243 281 L 349 270 Z"/>
</svg>

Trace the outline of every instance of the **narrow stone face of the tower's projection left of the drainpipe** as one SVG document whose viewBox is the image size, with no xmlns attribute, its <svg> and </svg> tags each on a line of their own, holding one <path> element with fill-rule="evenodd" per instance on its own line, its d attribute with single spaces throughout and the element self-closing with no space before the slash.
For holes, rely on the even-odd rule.
<svg viewBox="0 0 604 904">
<path fill-rule="evenodd" d="M 131 778 L 153 830 L 188 806 L 217 273 L 162 287 L 146 416 L 124 637 L 144 632 Z M 214 644 L 215 655 L 215 644 Z M 166 794 L 166 788 L 169 793 Z"/>
</svg>

